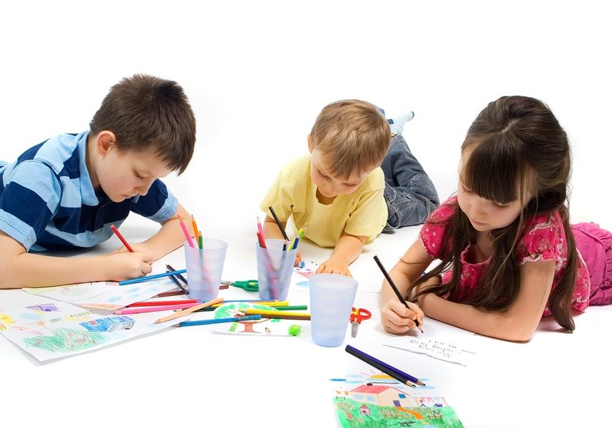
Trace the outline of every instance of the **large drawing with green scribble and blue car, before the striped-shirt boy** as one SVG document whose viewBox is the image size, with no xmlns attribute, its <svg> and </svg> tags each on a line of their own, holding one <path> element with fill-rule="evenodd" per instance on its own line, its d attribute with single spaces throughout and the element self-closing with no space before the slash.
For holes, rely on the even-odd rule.
<svg viewBox="0 0 612 428">
<path fill-rule="evenodd" d="M 109 317 L 67 302 L 36 300 L 26 307 L 0 310 L 0 333 L 39 361 L 76 355 L 170 326 L 153 324 L 159 312 Z"/>
</svg>

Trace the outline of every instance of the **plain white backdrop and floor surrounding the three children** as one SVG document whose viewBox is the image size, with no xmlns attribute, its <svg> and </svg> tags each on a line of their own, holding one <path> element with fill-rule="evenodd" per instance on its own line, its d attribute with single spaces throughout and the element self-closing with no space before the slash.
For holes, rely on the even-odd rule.
<svg viewBox="0 0 612 428">
<path fill-rule="evenodd" d="M 594 1 L 3 4 L 0 158 L 13 161 L 46 138 L 87 129 L 123 76 L 178 81 L 198 119 L 198 143 L 188 170 L 165 182 L 204 233 L 244 238 L 232 241 L 230 257 L 236 242 L 254 245 L 260 198 L 286 161 L 306 153 L 307 133 L 327 103 L 362 98 L 390 116 L 415 111 L 404 136 L 447 198 L 471 121 L 489 101 L 519 94 L 548 103 L 568 132 L 573 220 L 612 228 L 609 23 Z M 124 230 L 128 239 L 143 232 L 135 224 Z M 385 265 L 417 230 L 374 242 Z M 360 290 L 362 278 L 374 278 L 367 290 L 382 280 L 372 271 L 373 252 L 366 248 L 367 259 L 352 267 Z M 371 308 L 377 300 L 368 292 L 358 299 Z M 358 340 L 383 342 L 372 312 Z M 469 370 L 414 357 L 411 367 L 447 394 L 467 427 L 605 424 L 608 399 L 593 392 L 611 381 L 606 340 L 599 340 L 610 337 L 609 315 L 609 307 L 589 308 L 571 336 L 548 320 L 529 344 L 486 340 Z M 218 409 L 223 419 L 253 427 L 328 427 L 325 380 L 364 370 L 340 348 L 316 347 L 309 337 L 253 348 L 254 341 L 240 347 L 205 329 L 177 330 L 43 366 L 2 340 L 0 414 L 14 426 L 41 418 L 49 427 L 168 426 L 203 414 L 208 419 L 197 425 L 213 426 Z M 566 415 L 569 403 L 583 413 Z M 265 417 L 275 414 L 280 419 Z"/>
</svg>

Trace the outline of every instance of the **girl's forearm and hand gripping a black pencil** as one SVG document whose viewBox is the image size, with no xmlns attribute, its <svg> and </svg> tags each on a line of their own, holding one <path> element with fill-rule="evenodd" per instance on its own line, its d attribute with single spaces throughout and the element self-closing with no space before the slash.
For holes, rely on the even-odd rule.
<svg viewBox="0 0 612 428">
<path fill-rule="evenodd" d="M 404 261 L 402 262 L 402 260 Z M 399 260 L 392 267 L 389 276 L 392 277 L 402 296 L 407 298 L 408 289 L 412 282 L 422 275 L 434 259 L 427 254 L 421 241 L 417 240 L 402 255 L 402 260 Z M 423 325 L 423 311 L 412 302 L 408 302 L 408 306 L 409 308 L 405 307 L 399 301 L 389 282 L 384 280 L 380 292 L 380 320 L 384 330 L 399 335 L 416 327 L 414 320 L 419 320 L 419 323 Z"/>
</svg>

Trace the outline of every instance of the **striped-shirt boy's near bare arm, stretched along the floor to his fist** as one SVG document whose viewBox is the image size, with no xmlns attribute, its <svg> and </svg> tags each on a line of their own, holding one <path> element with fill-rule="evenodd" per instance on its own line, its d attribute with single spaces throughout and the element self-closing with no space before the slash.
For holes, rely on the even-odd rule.
<svg viewBox="0 0 612 428">
<path fill-rule="evenodd" d="M 0 288 L 127 280 L 148 274 L 153 263 L 151 254 L 140 252 L 65 258 L 27 253 L 4 232 L 0 232 L 0 253 Z"/>
</svg>

